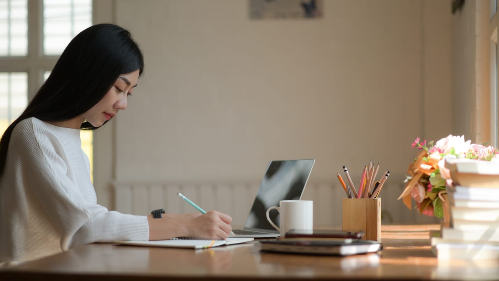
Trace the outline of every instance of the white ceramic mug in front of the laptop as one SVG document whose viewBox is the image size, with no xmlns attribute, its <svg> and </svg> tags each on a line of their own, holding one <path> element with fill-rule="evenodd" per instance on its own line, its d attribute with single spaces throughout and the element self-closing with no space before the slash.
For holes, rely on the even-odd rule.
<svg viewBox="0 0 499 281">
<path fill-rule="evenodd" d="M 279 226 L 275 225 L 268 216 L 271 209 L 279 212 Z M 279 231 L 280 236 L 284 237 L 287 230 L 312 229 L 313 224 L 313 201 L 312 200 L 281 200 L 279 206 L 269 207 L 267 209 L 267 220 Z"/>
</svg>

